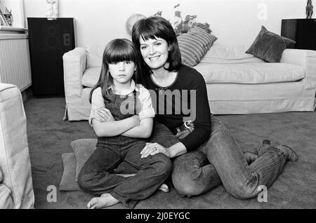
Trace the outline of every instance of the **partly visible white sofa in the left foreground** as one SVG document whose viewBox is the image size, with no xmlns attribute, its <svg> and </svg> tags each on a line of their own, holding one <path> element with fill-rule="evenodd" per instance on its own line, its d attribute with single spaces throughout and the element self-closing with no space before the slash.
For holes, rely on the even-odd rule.
<svg viewBox="0 0 316 223">
<path fill-rule="evenodd" d="M 34 205 L 26 125 L 19 88 L 0 83 L 0 209 Z"/>
</svg>

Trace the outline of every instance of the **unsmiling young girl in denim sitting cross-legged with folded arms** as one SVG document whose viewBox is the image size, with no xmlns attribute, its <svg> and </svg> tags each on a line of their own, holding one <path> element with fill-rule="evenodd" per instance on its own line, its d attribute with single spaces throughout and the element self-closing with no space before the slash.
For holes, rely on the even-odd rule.
<svg viewBox="0 0 316 223">
<path fill-rule="evenodd" d="M 154 193 L 171 173 L 171 161 L 164 154 L 140 157 L 145 138 L 152 133 L 154 109 L 149 91 L 136 85 L 139 58 L 138 50 L 127 39 L 114 39 L 105 47 L 100 79 L 90 95 L 89 123 L 98 142 L 78 177 L 81 189 L 101 195 L 92 198 L 88 208 L 119 202 L 133 208 L 137 201 Z M 136 171 L 129 177 L 115 174 Z"/>
</svg>

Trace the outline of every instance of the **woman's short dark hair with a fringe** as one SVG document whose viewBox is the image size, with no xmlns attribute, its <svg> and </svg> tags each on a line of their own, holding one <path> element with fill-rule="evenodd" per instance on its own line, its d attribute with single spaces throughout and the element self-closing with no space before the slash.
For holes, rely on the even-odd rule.
<svg viewBox="0 0 316 223">
<path fill-rule="evenodd" d="M 164 39 L 169 46 L 168 60 L 169 67 L 165 68 L 169 72 L 178 72 L 181 65 L 181 54 L 178 46 L 176 33 L 168 20 L 161 16 L 152 16 L 142 20 L 133 25 L 132 40 L 136 49 L 140 51 L 140 38 L 144 41 L 147 39 Z M 150 67 L 142 59 L 143 68 L 150 72 Z"/>
</svg>

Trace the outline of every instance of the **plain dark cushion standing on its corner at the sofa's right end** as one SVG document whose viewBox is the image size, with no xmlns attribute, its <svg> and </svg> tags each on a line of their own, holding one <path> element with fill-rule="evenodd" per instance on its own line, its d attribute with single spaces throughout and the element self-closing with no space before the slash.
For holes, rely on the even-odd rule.
<svg viewBox="0 0 316 223">
<path fill-rule="evenodd" d="M 279 62 L 286 48 L 294 45 L 295 41 L 279 36 L 261 27 L 261 31 L 246 53 L 250 53 L 265 62 Z"/>
</svg>

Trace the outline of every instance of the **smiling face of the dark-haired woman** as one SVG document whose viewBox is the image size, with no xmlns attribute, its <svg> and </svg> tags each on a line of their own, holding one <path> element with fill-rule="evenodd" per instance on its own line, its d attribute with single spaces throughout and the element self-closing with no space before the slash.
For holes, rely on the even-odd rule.
<svg viewBox="0 0 316 223">
<path fill-rule="evenodd" d="M 162 38 L 143 40 L 140 36 L 140 53 L 151 69 L 159 69 L 168 60 L 169 46 Z"/>
</svg>

